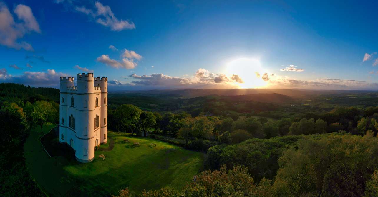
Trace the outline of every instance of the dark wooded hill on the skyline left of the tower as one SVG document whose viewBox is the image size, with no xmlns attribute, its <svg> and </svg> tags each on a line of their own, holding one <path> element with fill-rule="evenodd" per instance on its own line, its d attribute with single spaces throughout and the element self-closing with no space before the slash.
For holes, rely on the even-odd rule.
<svg viewBox="0 0 378 197">
<path fill-rule="evenodd" d="M 0 83 L 0 104 L 4 101 L 55 101 L 59 103 L 59 89 L 30 87 L 15 83 Z"/>
</svg>

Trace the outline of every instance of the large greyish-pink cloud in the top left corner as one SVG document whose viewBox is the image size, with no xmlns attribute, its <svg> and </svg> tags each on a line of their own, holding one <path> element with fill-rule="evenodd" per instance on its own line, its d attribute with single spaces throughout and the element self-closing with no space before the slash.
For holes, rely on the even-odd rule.
<svg viewBox="0 0 378 197">
<path fill-rule="evenodd" d="M 20 38 L 23 38 L 25 34 L 41 32 L 31 8 L 19 4 L 13 12 L 20 20 L 19 23 L 14 21 L 14 18 L 5 3 L 0 2 L 0 44 L 9 48 L 33 51 L 34 49 L 31 44 L 25 41 L 18 41 Z"/>
</svg>

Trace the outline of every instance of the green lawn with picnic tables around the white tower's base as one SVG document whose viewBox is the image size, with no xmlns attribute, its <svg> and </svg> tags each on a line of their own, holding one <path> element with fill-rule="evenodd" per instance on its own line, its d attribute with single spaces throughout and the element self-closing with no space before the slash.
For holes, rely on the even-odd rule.
<svg viewBox="0 0 378 197">
<path fill-rule="evenodd" d="M 45 125 L 43 133 L 48 133 L 54 126 Z M 108 137 L 116 142 L 113 150 L 96 151 L 96 159 L 90 163 L 79 163 L 64 156 L 49 158 L 40 144 L 40 136 L 39 127 L 31 131 L 24 155 L 33 178 L 52 196 L 95 191 L 104 196 L 116 194 L 124 187 L 136 193 L 161 187 L 180 189 L 203 167 L 203 153 L 110 131 Z M 122 143 L 125 139 L 130 142 Z M 133 148 L 134 142 L 139 142 L 140 147 Z M 108 147 L 108 144 L 101 147 Z M 99 159 L 100 154 L 106 159 Z"/>
</svg>

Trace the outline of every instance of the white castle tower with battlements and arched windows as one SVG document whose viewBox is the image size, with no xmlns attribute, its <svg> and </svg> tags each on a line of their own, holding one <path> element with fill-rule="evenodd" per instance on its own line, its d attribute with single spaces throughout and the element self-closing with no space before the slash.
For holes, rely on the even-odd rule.
<svg viewBox="0 0 378 197">
<path fill-rule="evenodd" d="M 75 151 L 76 160 L 95 159 L 95 147 L 107 142 L 108 78 L 93 73 L 60 77 L 59 142 Z"/>
</svg>

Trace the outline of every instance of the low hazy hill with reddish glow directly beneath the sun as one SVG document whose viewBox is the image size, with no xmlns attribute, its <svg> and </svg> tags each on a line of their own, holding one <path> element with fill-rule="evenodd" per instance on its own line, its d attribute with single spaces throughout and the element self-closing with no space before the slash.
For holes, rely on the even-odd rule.
<svg viewBox="0 0 378 197">
<path fill-rule="evenodd" d="M 237 95 L 237 96 L 222 96 L 225 99 L 237 100 L 237 101 L 258 101 L 258 102 L 275 102 L 283 103 L 290 102 L 294 99 L 287 95 L 278 93 L 259 93 L 253 95 Z"/>
</svg>

